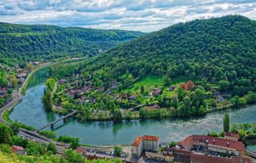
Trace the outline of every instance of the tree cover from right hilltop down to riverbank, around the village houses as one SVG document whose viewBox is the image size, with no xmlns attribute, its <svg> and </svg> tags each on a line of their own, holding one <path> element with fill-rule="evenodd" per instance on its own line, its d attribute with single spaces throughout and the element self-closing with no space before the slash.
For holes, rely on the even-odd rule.
<svg viewBox="0 0 256 163">
<path fill-rule="evenodd" d="M 80 74 L 80 79 L 90 80 L 89 86 L 104 86 L 105 91 L 117 81 L 118 89 L 113 93 L 120 95 L 120 101 L 111 102 L 109 99 L 113 98 L 96 92 L 86 93 L 86 98 L 88 96 L 95 99 L 96 104 L 86 103 L 81 112 L 83 114 L 90 110 L 110 108 L 113 119 L 115 116 L 116 119 L 138 117 L 128 115 L 129 112 L 127 115 L 120 115 L 117 108 L 124 107 L 123 101 L 131 103 L 131 90 L 138 89 L 134 85 L 149 74 L 156 76 L 156 80 L 157 76 L 164 76 L 164 85 L 167 86 L 179 76 L 202 78 L 195 83 L 196 86 L 191 82 L 183 83 L 175 89 L 174 96 L 162 94 L 157 98 L 152 97 L 153 102 L 166 110 L 153 110 L 152 114 L 143 109 L 139 112 L 141 118 L 200 115 L 205 114 L 207 109 L 216 107 L 216 92 L 231 96 L 223 105 L 232 103 L 234 106 L 243 106 L 255 102 L 255 37 L 256 22 L 243 16 L 195 19 L 148 33 L 77 65 L 52 67 L 51 76 L 61 78 Z M 78 85 L 83 87 L 84 83 L 79 80 Z M 60 91 L 64 88 L 60 88 Z M 143 103 L 141 98 L 147 98 L 148 93 L 141 87 L 141 92 L 136 92 L 139 95 L 136 105 Z M 79 97 L 77 94 L 75 96 Z M 75 105 L 77 103 L 74 100 L 70 102 Z"/>
</svg>

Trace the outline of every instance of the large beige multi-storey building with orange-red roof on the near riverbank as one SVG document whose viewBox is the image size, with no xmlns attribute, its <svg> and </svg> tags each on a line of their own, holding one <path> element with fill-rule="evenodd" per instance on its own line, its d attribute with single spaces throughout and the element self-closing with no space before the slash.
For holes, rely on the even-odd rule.
<svg viewBox="0 0 256 163">
<path fill-rule="evenodd" d="M 134 139 L 131 153 L 138 157 L 141 156 L 143 151 L 159 151 L 159 137 L 149 135 L 137 136 Z"/>
</svg>

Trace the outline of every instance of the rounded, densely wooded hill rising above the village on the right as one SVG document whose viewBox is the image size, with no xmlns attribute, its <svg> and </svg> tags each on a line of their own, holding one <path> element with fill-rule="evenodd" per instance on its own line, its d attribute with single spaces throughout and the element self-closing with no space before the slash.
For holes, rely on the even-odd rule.
<svg viewBox="0 0 256 163">
<path fill-rule="evenodd" d="M 149 33 L 97 59 L 117 77 L 145 74 L 207 76 L 211 82 L 256 85 L 256 22 L 239 15 L 196 19 Z M 87 67 L 91 69 L 92 67 Z"/>
</svg>

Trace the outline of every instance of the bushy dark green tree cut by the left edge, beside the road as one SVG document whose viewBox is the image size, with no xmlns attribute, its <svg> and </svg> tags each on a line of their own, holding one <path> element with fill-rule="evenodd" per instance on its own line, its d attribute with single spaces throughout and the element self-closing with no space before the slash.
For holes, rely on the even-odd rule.
<svg viewBox="0 0 256 163">
<path fill-rule="evenodd" d="M 13 130 L 6 125 L 0 125 L 0 144 L 11 144 Z"/>
</svg>

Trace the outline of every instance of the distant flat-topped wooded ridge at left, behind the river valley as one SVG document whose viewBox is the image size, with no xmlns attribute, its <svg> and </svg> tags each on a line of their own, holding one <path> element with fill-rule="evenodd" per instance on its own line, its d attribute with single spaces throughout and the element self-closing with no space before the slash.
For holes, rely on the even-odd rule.
<svg viewBox="0 0 256 163">
<path fill-rule="evenodd" d="M 0 62 L 94 55 L 144 35 L 141 32 L 0 23 Z M 6 58 L 6 59 L 4 59 Z"/>
</svg>

